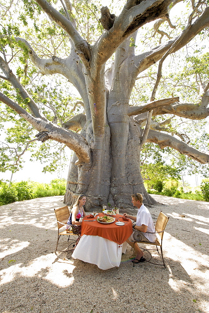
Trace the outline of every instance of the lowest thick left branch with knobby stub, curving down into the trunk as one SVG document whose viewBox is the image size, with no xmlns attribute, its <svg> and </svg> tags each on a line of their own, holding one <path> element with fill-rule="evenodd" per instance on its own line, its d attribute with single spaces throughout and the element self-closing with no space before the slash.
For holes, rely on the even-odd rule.
<svg viewBox="0 0 209 313">
<path fill-rule="evenodd" d="M 59 127 L 49 121 L 44 121 L 40 118 L 35 118 L 24 110 L 20 105 L 10 100 L 7 96 L 3 95 L 0 92 L 0 101 L 8 105 L 20 116 L 22 116 L 26 121 L 28 121 L 35 129 L 39 132 L 45 132 L 48 136 L 47 139 L 52 139 L 58 142 L 64 143 L 71 150 L 75 151 L 79 160 L 76 163 L 77 165 L 91 165 L 91 150 L 87 144 L 87 141 L 84 137 L 80 136 L 73 131 L 66 130 L 62 127 Z"/>
</svg>

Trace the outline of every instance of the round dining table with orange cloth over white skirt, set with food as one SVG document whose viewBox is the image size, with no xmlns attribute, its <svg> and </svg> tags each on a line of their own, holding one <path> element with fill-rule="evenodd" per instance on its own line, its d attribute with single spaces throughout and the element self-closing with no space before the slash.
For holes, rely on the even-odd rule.
<svg viewBox="0 0 209 313">
<path fill-rule="evenodd" d="M 99 223 L 87 215 L 83 218 L 81 238 L 74 249 L 72 257 L 87 263 L 96 264 L 100 269 L 110 269 L 120 265 L 122 252 L 126 252 L 125 242 L 133 232 L 130 219 L 124 221 L 122 215 L 116 214 L 113 223 Z M 118 221 L 123 222 L 117 225 Z"/>
</svg>

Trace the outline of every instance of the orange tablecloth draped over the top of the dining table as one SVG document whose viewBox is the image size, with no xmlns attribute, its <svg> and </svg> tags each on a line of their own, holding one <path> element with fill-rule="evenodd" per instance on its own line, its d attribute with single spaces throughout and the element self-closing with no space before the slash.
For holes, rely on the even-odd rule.
<svg viewBox="0 0 209 313">
<path fill-rule="evenodd" d="M 102 213 L 99 213 L 99 216 L 103 216 Z M 111 241 L 116 242 L 117 244 L 122 244 L 130 237 L 132 234 L 132 223 L 129 219 L 128 222 L 125 223 L 123 226 L 118 226 L 115 224 L 115 222 L 118 222 L 115 220 L 115 222 L 110 224 L 102 224 L 97 221 L 92 221 L 92 219 L 88 219 L 89 215 L 85 216 L 82 222 L 81 226 L 81 236 L 82 235 L 91 235 L 91 236 L 99 236 L 103 237 L 105 239 L 109 239 Z M 96 216 L 96 218 L 98 215 Z M 116 214 L 116 218 L 119 219 L 119 221 L 124 222 L 121 215 Z M 85 222 L 84 220 L 89 220 L 91 222 Z"/>
</svg>

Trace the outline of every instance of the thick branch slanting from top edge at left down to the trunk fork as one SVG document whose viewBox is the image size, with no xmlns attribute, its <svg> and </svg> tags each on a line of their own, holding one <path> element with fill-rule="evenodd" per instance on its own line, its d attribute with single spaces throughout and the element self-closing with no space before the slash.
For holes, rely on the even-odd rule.
<svg viewBox="0 0 209 313">
<path fill-rule="evenodd" d="M 70 38 L 73 41 L 77 54 L 79 54 L 82 62 L 88 65 L 89 61 L 91 60 L 89 45 L 84 40 L 84 38 L 80 36 L 79 32 L 74 27 L 72 22 L 65 18 L 55 8 L 53 8 L 51 4 L 48 3 L 46 0 L 37 0 L 36 2 L 40 5 L 43 11 L 46 12 L 48 16 L 54 20 L 54 22 L 56 22 L 69 34 Z"/>
</svg>

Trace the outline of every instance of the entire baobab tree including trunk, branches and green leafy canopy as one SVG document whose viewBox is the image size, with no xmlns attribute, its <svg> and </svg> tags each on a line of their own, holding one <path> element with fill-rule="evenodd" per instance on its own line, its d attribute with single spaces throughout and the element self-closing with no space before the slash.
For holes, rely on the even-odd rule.
<svg viewBox="0 0 209 313">
<path fill-rule="evenodd" d="M 181 170 L 209 162 L 208 1 L 127 0 L 117 11 L 95 1 L 0 5 L 1 125 L 15 124 L 19 154 L 42 141 L 35 155 L 48 160 L 57 141 L 46 170 L 64 147 L 74 151 L 65 203 L 85 193 L 87 208 L 130 206 L 134 192 L 154 203 L 140 173 L 146 142 Z"/>
</svg>

